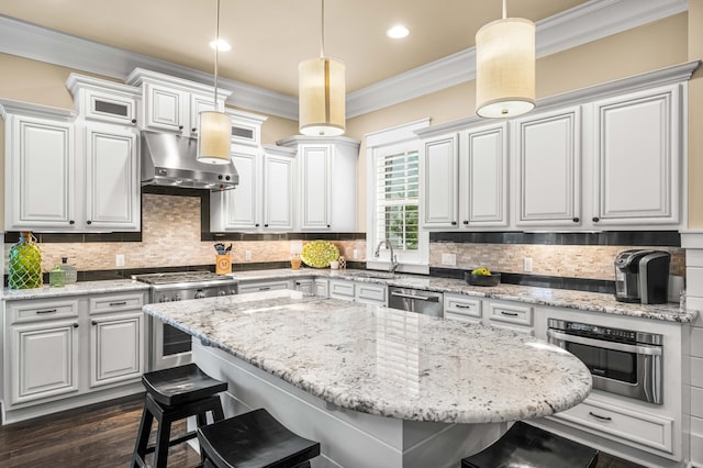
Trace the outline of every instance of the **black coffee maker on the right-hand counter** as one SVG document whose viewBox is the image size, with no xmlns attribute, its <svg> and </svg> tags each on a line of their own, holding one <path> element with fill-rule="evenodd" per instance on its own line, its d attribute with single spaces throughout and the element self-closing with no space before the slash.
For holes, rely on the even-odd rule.
<svg viewBox="0 0 703 468">
<path fill-rule="evenodd" d="M 615 299 L 663 304 L 669 299 L 671 255 L 662 250 L 624 250 L 615 257 Z"/>
</svg>

